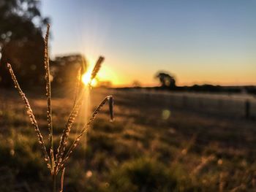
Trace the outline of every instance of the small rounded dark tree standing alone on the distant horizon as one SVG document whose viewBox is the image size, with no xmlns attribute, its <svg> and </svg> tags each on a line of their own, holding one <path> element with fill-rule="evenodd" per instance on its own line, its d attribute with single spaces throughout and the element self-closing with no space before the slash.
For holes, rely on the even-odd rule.
<svg viewBox="0 0 256 192">
<path fill-rule="evenodd" d="M 173 89 L 176 88 L 175 78 L 167 72 L 158 72 L 155 78 L 159 79 L 162 88 Z"/>
</svg>

